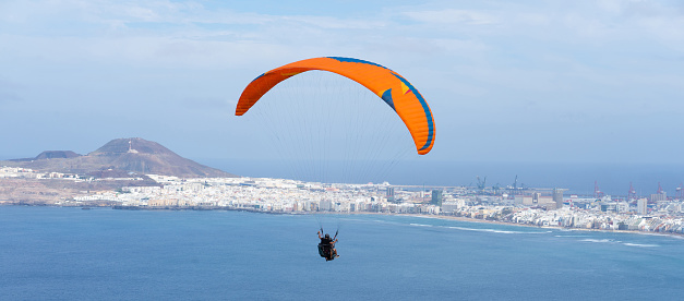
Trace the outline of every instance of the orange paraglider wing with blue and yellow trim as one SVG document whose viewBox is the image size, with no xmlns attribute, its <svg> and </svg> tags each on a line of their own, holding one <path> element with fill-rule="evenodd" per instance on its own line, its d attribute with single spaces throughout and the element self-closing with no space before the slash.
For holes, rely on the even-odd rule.
<svg viewBox="0 0 684 301">
<path fill-rule="evenodd" d="M 382 98 L 401 118 L 418 154 L 430 153 L 434 144 L 434 120 L 425 99 L 406 79 L 380 64 L 339 57 L 314 58 L 289 63 L 254 79 L 242 92 L 236 116 L 244 115 L 278 83 L 299 73 L 321 70 L 348 77 Z"/>
</svg>

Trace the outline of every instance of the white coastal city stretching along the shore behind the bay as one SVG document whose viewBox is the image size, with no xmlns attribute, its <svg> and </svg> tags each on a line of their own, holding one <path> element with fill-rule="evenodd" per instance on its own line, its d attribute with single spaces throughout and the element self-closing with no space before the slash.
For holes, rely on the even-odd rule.
<svg viewBox="0 0 684 301">
<path fill-rule="evenodd" d="M 323 184 L 269 178 L 192 178 L 146 174 L 156 185 L 79 191 L 56 197 L 53 206 L 112 206 L 122 209 L 232 209 L 274 214 L 413 214 L 567 229 L 684 233 L 684 201 L 662 191 L 649 197 L 564 195 L 563 189 L 494 189 Z M 0 179 L 87 183 L 143 182 L 143 178 L 84 179 L 3 167 Z M 148 181 L 145 181 L 148 183 Z M 0 188 L 0 204 L 25 204 Z M 632 191 L 632 190 L 631 190 Z M 680 191 L 680 190 L 677 190 Z M 10 200 L 12 198 L 12 200 Z M 21 198 L 21 197 L 19 197 Z"/>
</svg>

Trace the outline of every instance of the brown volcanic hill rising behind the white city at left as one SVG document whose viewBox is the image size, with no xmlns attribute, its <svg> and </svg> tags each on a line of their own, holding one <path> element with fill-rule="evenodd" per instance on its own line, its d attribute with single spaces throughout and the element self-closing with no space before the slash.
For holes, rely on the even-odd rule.
<svg viewBox="0 0 684 301">
<path fill-rule="evenodd" d="M 147 173 L 180 178 L 238 177 L 185 159 L 156 142 L 140 137 L 116 139 L 84 156 L 71 150 L 48 150 L 33 159 L 0 161 L 1 165 L 98 178 Z"/>
</svg>

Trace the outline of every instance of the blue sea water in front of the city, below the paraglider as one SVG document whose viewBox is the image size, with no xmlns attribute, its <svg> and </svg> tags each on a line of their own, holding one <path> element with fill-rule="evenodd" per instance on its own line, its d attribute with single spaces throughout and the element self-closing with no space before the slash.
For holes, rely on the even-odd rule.
<svg viewBox="0 0 684 301">
<path fill-rule="evenodd" d="M 320 222 L 340 229 L 333 262 Z M 681 300 L 683 253 L 416 216 L 0 206 L 0 300 Z"/>
</svg>

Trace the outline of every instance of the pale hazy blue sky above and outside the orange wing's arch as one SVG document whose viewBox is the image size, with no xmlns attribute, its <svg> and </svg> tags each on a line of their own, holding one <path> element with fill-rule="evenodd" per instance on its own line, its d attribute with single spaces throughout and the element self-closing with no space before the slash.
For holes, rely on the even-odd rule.
<svg viewBox="0 0 684 301">
<path fill-rule="evenodd" d="M 249 157 L 242 88 L 340 56 L 418 87 L 431 159 L 684 162 L 684 2 L 416 2 L 2 0 L 0 154 Z"/>
</svg>

